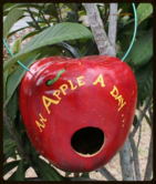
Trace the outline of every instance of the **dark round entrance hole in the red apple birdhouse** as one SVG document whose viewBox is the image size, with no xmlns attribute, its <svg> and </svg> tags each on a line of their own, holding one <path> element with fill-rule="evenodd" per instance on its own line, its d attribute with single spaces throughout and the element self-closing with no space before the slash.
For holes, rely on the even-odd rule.
<svg viewBox="0 0 156 184">
<path fill-rule="evenodd" d="M 71 140 L 74 151 L 81 155 L 95 155 L 104 145 L 104 132 L 98 127 L 83 127 Z"/>
</svg>

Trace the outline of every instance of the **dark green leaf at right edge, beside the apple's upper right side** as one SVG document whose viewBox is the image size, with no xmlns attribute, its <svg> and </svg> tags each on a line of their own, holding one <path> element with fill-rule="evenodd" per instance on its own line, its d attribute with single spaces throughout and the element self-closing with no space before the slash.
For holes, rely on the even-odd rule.
<svg viewBox="0 0 156 184">
<path fill-rule="evenodd" d="M 143 101 L 153 91 L 153 60 L 135 70 L 135 76 L 138 88 L 138 101 Z"/>
</svg>

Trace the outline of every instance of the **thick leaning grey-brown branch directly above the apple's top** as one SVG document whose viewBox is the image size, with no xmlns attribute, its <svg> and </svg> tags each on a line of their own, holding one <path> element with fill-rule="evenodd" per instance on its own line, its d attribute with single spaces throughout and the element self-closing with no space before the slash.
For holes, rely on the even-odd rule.
<svg viewBox="0 0 156 184">
<path fill-rule="evenodd" d="M 105 31 L 104 25 L 100 17 L 98 9 L 95 3 L 84 3 L 87 12 L 91 29 L 97 44 L 101 55 L 113 55 L 115 57 L 115 49 L 112 47 Z"/>
</svg>

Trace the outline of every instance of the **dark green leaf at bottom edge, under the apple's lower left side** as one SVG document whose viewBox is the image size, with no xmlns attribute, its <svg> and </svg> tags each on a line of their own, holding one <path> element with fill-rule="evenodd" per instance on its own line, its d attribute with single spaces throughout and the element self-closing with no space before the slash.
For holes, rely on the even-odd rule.
<svg viewBox="0 0 156 184">
<path fill-rule="evenodd" d="M 32 160 L 38 167 L 41 177 L 44 181 L 64 181 L 63 176 L 61 176 L 56 170 L 54 170 L 50 164 L 48 164 L 40 157 L 34 156 Z"/>
</svg>

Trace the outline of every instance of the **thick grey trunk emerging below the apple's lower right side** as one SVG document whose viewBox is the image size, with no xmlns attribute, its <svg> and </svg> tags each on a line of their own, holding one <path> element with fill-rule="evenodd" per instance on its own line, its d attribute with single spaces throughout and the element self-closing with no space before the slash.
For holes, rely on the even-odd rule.
<svg viewBox="0 0 156 184">
<path fill-rule="evenodd" d="M 119 152 L 119 159 L 123 181 L 134 181 L 133 164 L 131 161 L 131 143 L 128 137 Z"/>
</svg>

